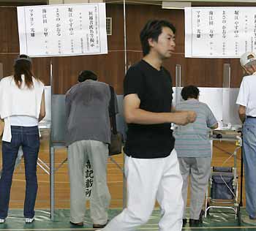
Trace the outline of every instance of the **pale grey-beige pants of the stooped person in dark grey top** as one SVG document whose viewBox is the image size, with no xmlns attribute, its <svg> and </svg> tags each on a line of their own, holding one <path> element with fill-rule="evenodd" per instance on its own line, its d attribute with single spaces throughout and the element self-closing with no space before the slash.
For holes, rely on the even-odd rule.
<svg viewBox="0 0 256 231">
<path fill-rule="evenodd" d="M 70 181 L 70 221 L 83 221 L 85 207 L 84 168 L 89 159 L 94 171 L 94 183 L 90 199 L 91 220 L 94 224 L 108 221 L 110 193 L 107 185 L 108 144 L 96 140 L 81 140 L 68 147 Z"/>
</svg>

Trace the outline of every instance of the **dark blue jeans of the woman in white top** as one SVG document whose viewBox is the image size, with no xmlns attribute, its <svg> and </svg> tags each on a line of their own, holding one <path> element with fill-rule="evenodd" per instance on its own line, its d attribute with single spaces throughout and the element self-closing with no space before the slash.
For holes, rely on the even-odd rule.
<svg viewBox="0 0 256 231">
<path fill-rule="evenodd" d="M 38 126 L 11 126 L 11 142 L 2 143 L 2 173 L 0 179 L 0 219 L 7 217 L 12 175 L 18 149 L 21 146 L 24 154 L 26 175 L 26 197 L 24 216 L 34 217 L 34 204 L 37 197 L 37 156 L 39 152 Z"/>
</svg>

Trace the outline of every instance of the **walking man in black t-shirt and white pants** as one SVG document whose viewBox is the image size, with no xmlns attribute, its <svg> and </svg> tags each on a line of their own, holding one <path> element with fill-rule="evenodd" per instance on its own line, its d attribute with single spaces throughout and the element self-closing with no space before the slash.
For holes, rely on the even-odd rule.
<svg viewBox="0 0 256 231">
<path fill-rule="evenodd" d="M 174 51 L 175 31 L 165 20 L 151 20 L 140 32 L 144 57 L 124 79 L 127 208 L 102 231 L 136 230 L 148 221 L 156 199 L 162 213 L 159 230 L 181 230 L 182 177 L 170 124 L 192 123 L 196 115 L 172 107 L 171 77 L 162 61 Z"/>
</svg>

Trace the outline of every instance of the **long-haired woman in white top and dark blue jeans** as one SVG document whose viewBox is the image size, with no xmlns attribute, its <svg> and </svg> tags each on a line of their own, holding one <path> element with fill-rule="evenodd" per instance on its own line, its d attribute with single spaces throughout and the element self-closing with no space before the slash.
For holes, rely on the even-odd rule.
<svg viewBox="0 0 256 231">
<path fill-rule="evenodd" d="M 45 117 L 44 85 L 31 72 L 31 58 L 20 55 L 15 59 L 14 75 L 0 82 L 0 117 L 4 119 L 2 137 L 2 173 L 0 179 L 0 223 L 4 223 L 10 201 L 12 174 L 18 149 L 24 154 L 26 223 L 34 221 L 37 197 L 37 156 L 39 152 L 38 122 Z"/>
</svg>

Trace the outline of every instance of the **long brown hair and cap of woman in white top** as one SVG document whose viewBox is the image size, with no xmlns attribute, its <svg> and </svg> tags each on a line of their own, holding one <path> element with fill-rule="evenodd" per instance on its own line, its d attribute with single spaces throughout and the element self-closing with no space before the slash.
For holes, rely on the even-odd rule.
<svg viewBox="0 0 256 231">
<path fill-rule="evenodd" d="M 32 72 L 32 61 L 29 56 L 20 55 L 18 58 L 15 59 L 14 62 L 14 80 L 18 88 L 21 87 L 22 78 L 21 75 L 25 75 L 25 85 L 28 88 L 33 88 L 33 77 L 34 74 Z M 35 77 L 37 79 L 37 77 Z"/>
</svg>

